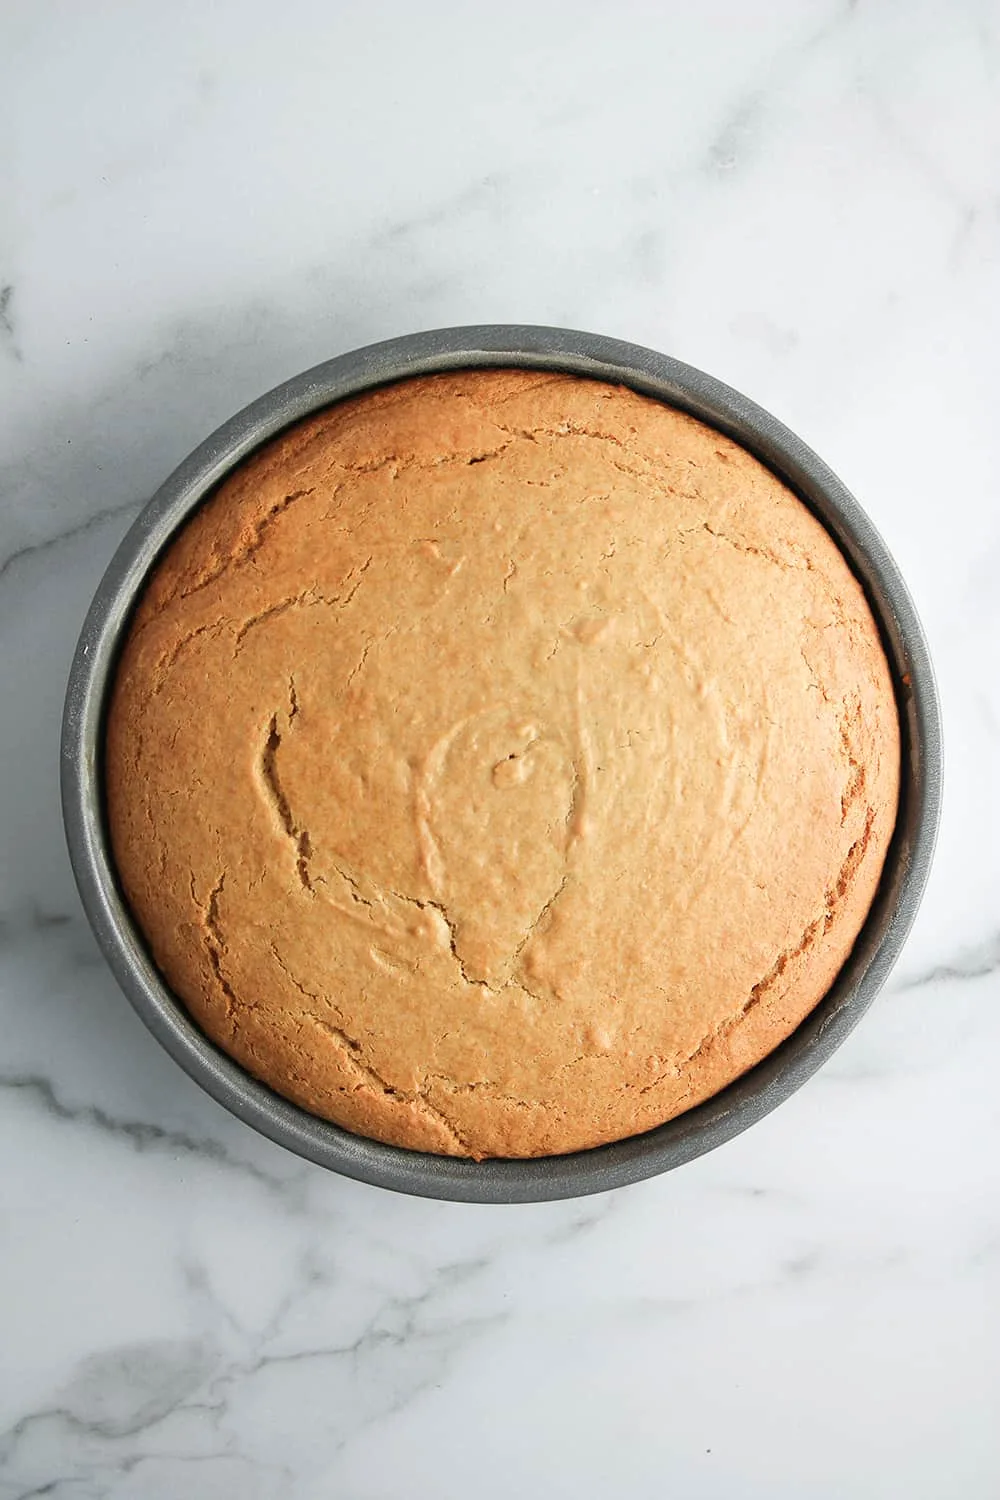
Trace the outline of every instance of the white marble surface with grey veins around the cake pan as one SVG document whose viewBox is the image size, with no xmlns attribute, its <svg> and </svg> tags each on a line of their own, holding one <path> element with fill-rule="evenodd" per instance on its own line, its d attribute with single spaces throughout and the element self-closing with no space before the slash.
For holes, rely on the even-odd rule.
<svg viewBox="0 0 1000 1500">
<path fill-rule="evenodd" d="M 0 1496 L 1000 1494 L 996 0 L 0 6 Z M 9 290 L 7 290 L 9 288 Z M 135 1020 L 66 670 L 139 502 L 304 366 L 472 321 L 747 390 L 936 656 L 931 890 L 799 1095 L 619 1194 L 393 1197 Z"/>
</svg>

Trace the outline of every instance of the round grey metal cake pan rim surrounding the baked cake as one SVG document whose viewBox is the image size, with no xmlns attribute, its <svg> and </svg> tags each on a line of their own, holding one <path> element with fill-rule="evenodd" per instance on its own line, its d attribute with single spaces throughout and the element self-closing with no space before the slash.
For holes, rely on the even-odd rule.
<svg viewBox="0 0 1000 1500">
<path fill-rule="evenodd" d="M 679 406 L 750 448 L 822 520 L 861 579 L 894 674 L 903 724 L 897 831 L 868 921 L 837 982 L 798 1030 L 708 1102 L 643 1136 L 565 1156 L 465 1161 L 382 1146 L 306 1113 L 250 1077 L 187 1017 L 118 890 L 103 812 L 103 717 L 123 633 L 150 568 L 178 526 L 253 448 L 310 412 L 373 386 L 474 366 L 594 376 Z M 363 1182 L 426 1197 L 514 1203 L 601 1192 L 721 1146 L 826 1062 L 886 980 L 927 882 L 940 812 L 934 674 L 906 584 L 868 516 L 829 468 L 745 396 L 664 354 L 567 328 L 442 328 L 390 339 L 286 381 L 219 428 L 166 480 L 115 552 L 73 658 L 61 741 L 69 854 L 90 924 L 138 1014 L 220 1104 L 289 1150 Z"/>
</svg>

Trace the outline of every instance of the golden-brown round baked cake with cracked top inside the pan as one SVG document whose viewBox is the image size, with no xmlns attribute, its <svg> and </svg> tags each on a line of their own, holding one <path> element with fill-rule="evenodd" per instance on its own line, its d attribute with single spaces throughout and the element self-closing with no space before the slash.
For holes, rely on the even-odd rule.
<svg viewBox="0 0 1000 1500">
<path fill-rule="evenodd" d="M 127 898 L 198 1023 L 351 1130 L 648 1130 L 829 987 L 892 834 L 868 604 L 808 510 L 631 390 L 333 406 L 159 562 L 106 738 Z"/>
</svg>

